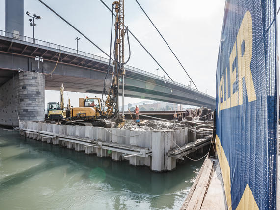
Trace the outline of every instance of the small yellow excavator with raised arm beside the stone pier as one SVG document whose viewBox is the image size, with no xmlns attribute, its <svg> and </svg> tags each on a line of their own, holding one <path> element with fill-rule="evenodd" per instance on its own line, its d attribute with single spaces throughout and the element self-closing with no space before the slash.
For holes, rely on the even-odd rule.
<svg viewBox="0 0 280 210">
<path fill-rule="evenodd" d="M 67 110 L 64 109 L 63 91 L 64 91 L 64 86 L 63 86 L 63 84 L 61 84 L 60 103 L 58 103 L 58 102 L 49 102 L 48 103 L 48 105 L 47 105 L 48 115 L 47 115 L 45 122 L 47 122 L 47 123 L 53 123 L 53 122 L 57 122 L 57 121 L 59 122 L 62 119 L 69 117 Z M 70 101 L 69 101 L 69 104 L 70 104 Z"/>
</svg>

